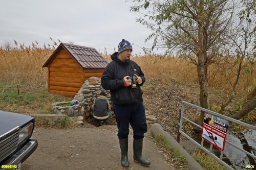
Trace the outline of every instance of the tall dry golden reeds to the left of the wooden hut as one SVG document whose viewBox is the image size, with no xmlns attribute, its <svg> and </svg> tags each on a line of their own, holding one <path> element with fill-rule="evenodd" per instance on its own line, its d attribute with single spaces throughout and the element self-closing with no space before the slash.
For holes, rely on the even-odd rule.
<svg viewBox="0 0 256 170">
<path fill-rule="evenodd" d="M 20 80 L 38 84 L 47 81 L 47 69 L 42 68 L 53 53 L 53 48 L 37 46 L 22 48 L 0 47 L 0 77 L 3 82 L 16 83 Z"/>
</svg>

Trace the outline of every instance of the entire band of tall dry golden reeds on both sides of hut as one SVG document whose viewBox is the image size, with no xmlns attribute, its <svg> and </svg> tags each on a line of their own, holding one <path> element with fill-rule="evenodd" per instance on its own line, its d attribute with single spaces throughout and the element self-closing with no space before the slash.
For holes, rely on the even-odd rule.
<svg viewBox="0 0 256 170">
<path fill-rule="evenodd" d="M 32 43 L 31 46 L 18 45 L 16 41 L 13 45 L 7 43 L 1 46 L 0 82 L 8 82 L 12 85 L 27 82 L 33 87 L 46 86 L 47 68 L 42 68 L 42 65 L 53 53 L 55 47 L 56 45 L 50 46 L 48 44 L 47 47 L 44 46 L 44 48 L 41 48 L 36 43 Z M 106 52 L 102 56 L 107 61 L 111 61 L 110 55 Z M 196 66 L 185 60 L 176 57 L 156 57 L 155 55 L 134 55 L 132 59 L 141 66 L 147 81 L 155 80 L 161 83 L 168 83 L 170 79 L 175 79 L 183 84 L 198 83 Z M 227 91 L 231 91 L 232 86 L 230 82 L 234 82 L 236 78 L 236 74 L 234 74 L 236 67 L 230 69 L 230 65 L 233 62 L 232 58 L 225 58 L 225 60 L 222 60 L 218 64 L 212 64 L 208 68 L 209 87 L 216 89 L 215 93 L 225 94 L 223 98 L 226 98 Z M 227 74 L 227 72 L 230 72 L 230 74 Z M 255 82 L 255 70 L 251 69 L 246 74 L 245 71 L 242 71 L 237 87 L 237 99 L 241 100 L 244 98 L 252 88 L 252 84 L 256 84 Z"/>
</svg>

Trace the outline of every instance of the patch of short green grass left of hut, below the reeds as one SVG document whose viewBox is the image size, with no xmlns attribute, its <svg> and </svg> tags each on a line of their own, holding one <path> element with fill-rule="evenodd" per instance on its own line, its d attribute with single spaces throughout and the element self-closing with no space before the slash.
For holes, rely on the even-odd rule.
<svg viewBox="0 0 256 170">
<path fill-rule="evenodd" d="M 26 81 L 0 82 L 0 91 L 0 109 L 18 113 L 53 113 L 53 103 L 73 99 L 48 93 L 45 84 Z"/>
</svg>

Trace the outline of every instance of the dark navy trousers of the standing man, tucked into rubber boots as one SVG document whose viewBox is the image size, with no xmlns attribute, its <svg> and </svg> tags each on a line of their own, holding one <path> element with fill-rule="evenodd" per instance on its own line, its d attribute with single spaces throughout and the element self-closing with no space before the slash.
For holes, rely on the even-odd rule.
<svg viewBox="0 0 256 170">
<path fill-rule="evenodd" d="M 142 139 L 147 131 L 145 108 L 143 103 L 118 105 L 113 103 L 118 127 L 118 138 L 126 139 L 129 134 L 129 123 L 133 128 L 133 138 Z"/>
</svg>

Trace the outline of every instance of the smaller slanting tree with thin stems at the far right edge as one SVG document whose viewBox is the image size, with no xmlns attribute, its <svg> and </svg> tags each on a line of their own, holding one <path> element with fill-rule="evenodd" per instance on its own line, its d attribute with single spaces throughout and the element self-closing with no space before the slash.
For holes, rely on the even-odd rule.
<svg viewBox="0 0 256 170">
<path fill-rule="evenodd" d="M 231 67 L 236 69 L 229 69 L 227 75 L 234 74 L 236 79 L 232 83 L 232 89 L 227 93 L 227 101 L 221 104 L 219 111 L 219 113 L 224 113 L 225 108 L 235 99 L 237 91 L 240 90 L 237 89 L 240 75 L 251 75 L 252 82 L 248 86 L 249 93 L 232 110 L 226 110 L 228 111 L 226 114 L 235 119 L 246 116 L 256 108 L 256 78 L 253 76 L 256 66 L 256 1 L 243 0 L 241 5 L 236 15 L 240 21 L 233 24 L 232 34 L 226 35 L 230 40 L 227 47 L 230 50 L 227 51 L 236 56 L 233 57 L 235 60 L 231 63 Z"/>
</svg>

